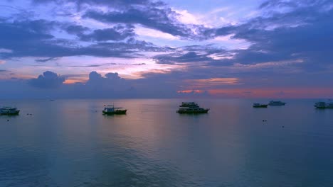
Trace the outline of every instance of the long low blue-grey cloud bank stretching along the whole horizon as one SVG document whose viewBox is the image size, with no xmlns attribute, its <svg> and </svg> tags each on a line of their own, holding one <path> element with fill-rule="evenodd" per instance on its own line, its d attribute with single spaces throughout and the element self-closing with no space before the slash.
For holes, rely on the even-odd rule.
<svg viewBox="0 0 333 187">
<path fill-rule="evenodd" d="M 198 73 L 198 72 L 196 72 Z M 308 85 L 300 79 L 287 77 L 292 84 L 243 85 L 250 80 L 235 77 L 201 76 L 193 71 L 170 72 L 169 74 L 149 73 L 142 79 L 123 79 L 119 74 L 107 73 L 104 76 L 97 72 L 89 74 L 88 81 L 76 84 L 63 84 L 71 77 L 86 77 L 87 74 L 59 76 L 53 72 L 44 72 L 36 79 L 0 80 L 0 86 L 6 87 L 1 98 L 178 98 L 178 97 L 318 97 L 330 96 L 333 89 L 321 88 L 313 75 L 309 76 Z M 321 76 L 322 77 L 322 76 Z M 326 79 L 322 77 L 322 79 Z M 50 86 L 52 85 L 52 86 Z M 295 86 L 297 85 L 297 86 Z M 315 89 L 308 89 L 309 85 Z M 324 85 L 324 84 L 323 84 Z M 276 87 L 277 86 L 277 87 Z M 43 88 L 43 89 L 41 89 Z M 53 89 L 51 89 L 53 88 Z M 278 94 L 283 91 L 285 94 Z M 24 94 L 22 94 L 24 93 Z"/>
</svg>

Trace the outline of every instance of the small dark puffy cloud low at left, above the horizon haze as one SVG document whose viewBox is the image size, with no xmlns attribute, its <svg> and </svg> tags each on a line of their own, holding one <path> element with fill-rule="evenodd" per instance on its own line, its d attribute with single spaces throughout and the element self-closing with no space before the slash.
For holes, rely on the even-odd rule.
<svg viewBox="0 0 333 187">
<path fill-rule="evenodd" d="M 29 84 L 41 89 L 56 89 L 61 86 L 65 81 L 64 77 L 60 77 L 54 72 L 44 72 L 43 75 L 39 75 L 37 79 L 31 79 Z"/>
</svg>

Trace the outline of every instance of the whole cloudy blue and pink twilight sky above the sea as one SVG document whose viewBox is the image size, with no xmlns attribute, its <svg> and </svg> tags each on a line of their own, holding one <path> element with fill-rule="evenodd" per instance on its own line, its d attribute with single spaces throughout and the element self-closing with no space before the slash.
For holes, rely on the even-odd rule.
<svg viewBox="0 0 333 187">
<path fill-rule="evenodd" d="M 1 0 L 0 98 L 332 98 L 333 1 Z"/>
</svg>

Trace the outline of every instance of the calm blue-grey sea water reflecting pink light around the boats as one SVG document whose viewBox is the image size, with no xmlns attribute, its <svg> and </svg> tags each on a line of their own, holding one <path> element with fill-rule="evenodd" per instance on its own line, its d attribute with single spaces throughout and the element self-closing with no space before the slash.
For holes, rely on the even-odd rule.
<svg viewBox="0 0 333 187">
<path fill-rule="evenodd" d="M 0 186 L 333 186 L 333 110 L 196 101 L 211 111 L 179 115 L 176 99 L 1 101 L 21 114 L 0 116 Z M 127 115 L 102 115 L 108 103 Z"/>
</svg>

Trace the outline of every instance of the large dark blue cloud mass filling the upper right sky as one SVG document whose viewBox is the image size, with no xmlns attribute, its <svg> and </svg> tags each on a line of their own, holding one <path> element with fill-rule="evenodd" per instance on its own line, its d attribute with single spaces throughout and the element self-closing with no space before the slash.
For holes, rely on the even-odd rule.
<svg viewBox="0 0 333 187">
<path fill-rule="evenodd" d="M 261 4 L 260 10 L 267 13 L 236 26 L 202 31 L 206 38 L 233 35 L 251 43 L 248 49 L 229 50 L 232 58 L 211 61 L 212 66 L 302 60 L 295 66 L 313 71 L 332 63 L 332 2 L 273 0 Z"/>
</svg>

